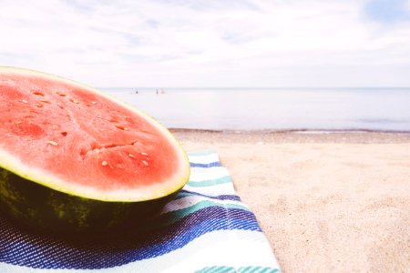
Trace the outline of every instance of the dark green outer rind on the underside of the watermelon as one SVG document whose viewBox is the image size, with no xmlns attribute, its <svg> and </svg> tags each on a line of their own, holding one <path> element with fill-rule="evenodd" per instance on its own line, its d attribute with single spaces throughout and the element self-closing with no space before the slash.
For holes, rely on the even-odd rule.
<svg viewBox="0 0 410 273">
<path fill-rule="evenodd" d="M 0 210 L 5 216 L 20 227 L 58 236 L 99 238 L 145 227 L 175 194 L 142 202 L 105 202 L 56 191 L 0 168 Z"/>
</svg>

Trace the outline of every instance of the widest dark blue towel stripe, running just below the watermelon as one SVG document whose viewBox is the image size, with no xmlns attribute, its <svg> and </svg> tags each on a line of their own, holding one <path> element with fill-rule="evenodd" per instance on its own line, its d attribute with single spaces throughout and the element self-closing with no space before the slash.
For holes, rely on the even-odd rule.
<svg viewBox="0 0 410 273">
<path fill-rule="evenodd" d="M 149 227 L 150 223 L 147 225 Z M 205 207 L 167 227 L 151 228 L 113 242 L 86 243 L 26 234 L 4 218 L 0 219 L 0 228 L 5 231 L 0 238 L 0 262 L 30 268 L 76 269 L 112 268 L 154 258 L 215 230 L 261 231 L 250 211 L 226 207 Z"/>
</svg>

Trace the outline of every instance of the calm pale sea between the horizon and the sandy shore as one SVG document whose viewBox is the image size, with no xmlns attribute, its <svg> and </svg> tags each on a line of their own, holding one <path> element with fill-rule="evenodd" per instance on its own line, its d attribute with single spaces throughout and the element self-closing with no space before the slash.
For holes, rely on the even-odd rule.
<svg viewBox="0 0 410 273">
<path fill-rule="evenodd" d="M 410 88 L 102 89 L 169 128 L 410 132 Z"/>
</svg>

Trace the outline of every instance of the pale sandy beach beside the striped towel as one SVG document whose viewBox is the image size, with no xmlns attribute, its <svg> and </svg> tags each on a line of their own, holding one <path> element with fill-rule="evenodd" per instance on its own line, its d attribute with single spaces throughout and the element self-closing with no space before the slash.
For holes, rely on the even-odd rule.
<svg viewBox="0 0 410 273">
<path fill-rule="evenodd" d="M 219 153 L 284 272 L 410 272 L 410 134 L 172 132 Z"/>
</svg>

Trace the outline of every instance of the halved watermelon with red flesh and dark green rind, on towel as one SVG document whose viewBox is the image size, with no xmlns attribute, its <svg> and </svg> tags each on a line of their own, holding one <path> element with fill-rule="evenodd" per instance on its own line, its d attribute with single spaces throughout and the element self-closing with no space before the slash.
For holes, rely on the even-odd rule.
<svg viewBox="0 0 410 273">
<path fill-rule="evenodd" d="M 0 67 L 0 111 L 0 208 L 29 227 L 138 225 L 189 179 L 165 127 L 89 86 Z"/>
</svg>

